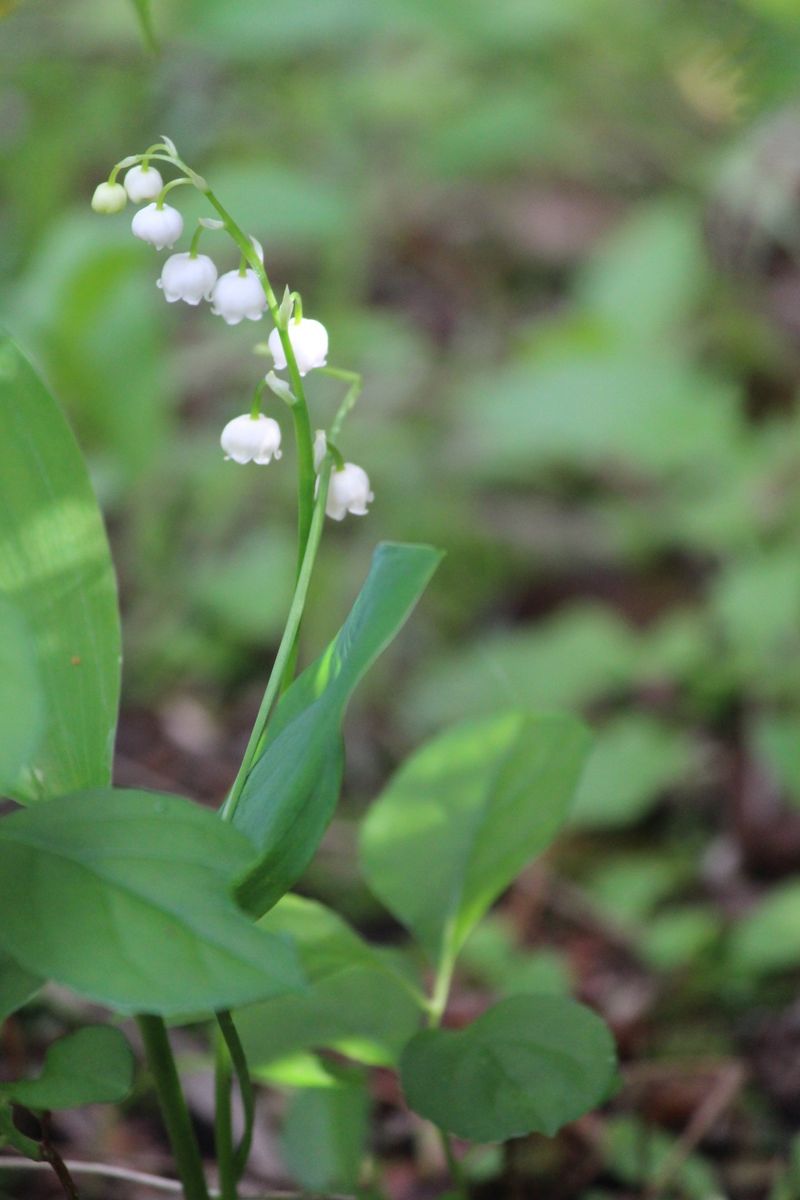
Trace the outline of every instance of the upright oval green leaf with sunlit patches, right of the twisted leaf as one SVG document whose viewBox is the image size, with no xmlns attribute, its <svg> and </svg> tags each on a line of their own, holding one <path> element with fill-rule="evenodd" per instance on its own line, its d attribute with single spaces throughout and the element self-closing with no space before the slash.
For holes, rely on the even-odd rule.
<svg viewBox="0 0 800 1200">
<path fill-rule="evenodd" d="M 465 721 L 404 763 L 369 810 L 367 882 L 437 961 L 563 826 L 587 755 L 579 721 L 503 713 Z"/>
</svg>

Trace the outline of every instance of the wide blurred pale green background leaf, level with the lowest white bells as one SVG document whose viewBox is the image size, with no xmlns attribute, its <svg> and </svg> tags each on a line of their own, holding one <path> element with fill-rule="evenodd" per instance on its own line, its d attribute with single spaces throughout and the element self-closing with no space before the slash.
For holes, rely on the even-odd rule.
<svg viewBox="0 0 800 1200">
<path fill-rule="evenodd" d="M 476 376 L 457 415 L 464 468 L 521 485 L 565 464 L 594 473 L 622 463 L 658 479 L 708 472 L 742 436 L 727 382 L 667 350 L 628 346 Z"/>
</svg>

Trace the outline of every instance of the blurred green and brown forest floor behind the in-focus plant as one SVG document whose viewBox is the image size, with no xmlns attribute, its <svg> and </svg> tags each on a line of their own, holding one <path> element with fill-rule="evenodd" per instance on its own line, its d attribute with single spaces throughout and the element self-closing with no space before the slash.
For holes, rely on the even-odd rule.
<svg viewBox="0 0 800 1200">
<path fill-rule="evenodd" d="M 130 210 L 89 209 L 164 132 L 365 376 L 343 449 L 377 499 L 327 530 L 306 653 L 378 539 L 447 551 L 354 706 L 306 889 L 393 936 L 353 847 L 403 754 L 510 703 L 597 733 L 455 1010 L 570 986 L 625 1082 L 487 1159 L 486 1194 L 800 1195 L 796 0 L 156 0 L 155 54 L 126 0 L 0 13 L 0 319 L 107 515 L 118 781 L 224 794 L 294 559 L 291 455 L 218 448 L 266 325 L 168 307 Z M 337 388 L 309 392 L 323 425 Z M 380 1099 L 392 1195 L 433 1194 Z M 146 1141 L 119 1121 L 95 1150 Z"/>
</svg>

